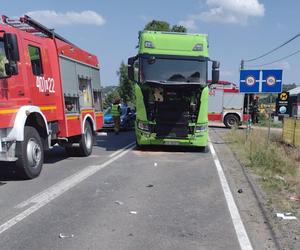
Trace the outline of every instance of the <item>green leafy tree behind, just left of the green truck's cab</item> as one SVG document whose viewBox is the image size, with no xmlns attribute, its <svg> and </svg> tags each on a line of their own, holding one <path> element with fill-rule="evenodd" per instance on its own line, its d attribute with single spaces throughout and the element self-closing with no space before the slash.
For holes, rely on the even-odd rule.
<svg viewBox="0 0 300 250">
<path fill-rule="evenodd" d="M 119 71 L 119 94 L 126 104 L 134 104 L 134 83 L 128 79 L 127 65 L 122 61 Z"/>
</svg>

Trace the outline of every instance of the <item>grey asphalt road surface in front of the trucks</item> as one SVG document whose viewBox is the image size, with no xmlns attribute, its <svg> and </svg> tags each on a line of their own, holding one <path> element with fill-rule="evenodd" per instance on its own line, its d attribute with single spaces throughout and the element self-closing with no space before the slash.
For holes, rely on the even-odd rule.
<svg viewBox="0 0 300 250">
<path fill-rule="evenodd" d="M 2 164 L 0 249 L 240 249 L 212 154 L 134 140 L 100 135 L 88 158 L 56 148 L 30 181 Z"/>
</svg>

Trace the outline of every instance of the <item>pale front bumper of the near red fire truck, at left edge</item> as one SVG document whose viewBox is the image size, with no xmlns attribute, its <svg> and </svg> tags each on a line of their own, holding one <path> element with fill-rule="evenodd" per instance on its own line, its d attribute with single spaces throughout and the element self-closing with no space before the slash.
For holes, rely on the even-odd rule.
<svg viewBox="0 0 300 250">
<path fill-rule="evenodd" d="M 16 141 L 6 135 L 7 129 L 0 129 L 0 161 L 16 161 Z"/>
</svg>

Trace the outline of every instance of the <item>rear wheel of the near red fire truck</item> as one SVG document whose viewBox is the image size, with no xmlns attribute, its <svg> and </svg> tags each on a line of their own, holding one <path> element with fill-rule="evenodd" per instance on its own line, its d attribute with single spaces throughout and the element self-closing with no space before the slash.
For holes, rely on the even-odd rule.
<svg viewBox="0 0 300 250">
<path fill-rule="evenodd" d="M 78 153 L 80 156 L 89 156 L 93 151 L 94 136 L 90 123 L 84 125 L 84 134 L 79 141 Z"/>
</svg>

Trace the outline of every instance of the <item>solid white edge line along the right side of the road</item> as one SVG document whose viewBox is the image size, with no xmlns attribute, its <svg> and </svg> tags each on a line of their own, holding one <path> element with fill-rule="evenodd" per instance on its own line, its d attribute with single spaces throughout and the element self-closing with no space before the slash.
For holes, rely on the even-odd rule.
<svg viewBox="0 0 300 250">
<path fill-rule="evenodd" d="M 230 212 L 231 220 L 232 220 L 238 241 L 240 243 L 240 247 L 242 250 L 253 250 L 253 247 L 252 247 L 249 237 L 247 235 L 246 229 L 244 227 L 243 221 L 241 219 L 239 210 L 237 208 L 237 205 L 235 204 L 233 195 L 230 191 L 230 188 L 229 188 L 228 182 L 226 180 L 222 165 L 218 159 L 218 156 L 216 154 L 216 151 L 215 151 L 212 143 L 209 142 L 208 145 L 209 145 L 210 152 L 213 156 L 214 163 L 217 168 L 221 186 L 222 186 L 222 189 L 223 189 L 223 192 L 225 195 L 225 199 L 226 199 L 227 206 L 228 206 L 228 209 Z"/>
</svg>

